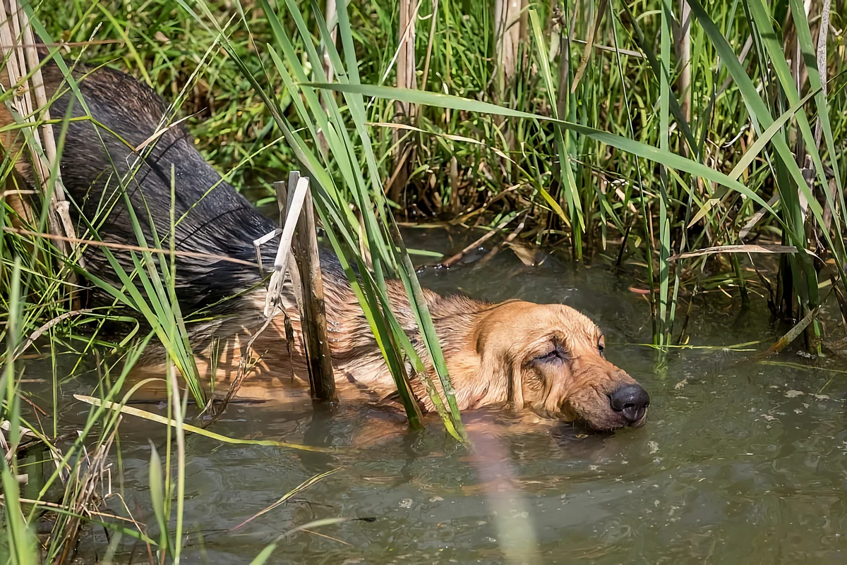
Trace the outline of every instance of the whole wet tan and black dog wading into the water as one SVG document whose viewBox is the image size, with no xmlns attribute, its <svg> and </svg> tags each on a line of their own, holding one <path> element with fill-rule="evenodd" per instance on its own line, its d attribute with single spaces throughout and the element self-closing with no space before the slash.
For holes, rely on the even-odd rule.
<svg viewBox="0 0 847 565">
<path fill-rule="evenodd" d="M 43 74 L 48 96 L 64 91 L 51 107 L 52 118 L 62 118 L 73 95 L 53 63 L 45 65 Z M 130 195 L 147 242 L 153 241 L 151 220 L 158 233 L 169 233 L 174 167 L 175 214 L 183 218 L 176 227 L 177 249 L 251 261 L 252 241 L 275 226 L 213 171 L 194 149 L 185 129 L 167 129 L 141 154 L 115 138 L 117 134 L 133 147 L 147 145 L 153 133 L 163 127 L 165 107 L 158 96 L 113 70 L 91 71 L 77 65 L 74 75 L 94 120 L 69 123 L 61 172 L 66 189 L 86 217 L 102 221 L 100 237 L 136 244 L 125 201 L 119 195 L 122 189 Z M 8 87 L 5 77 L 3 85 Z M 76 117 L 86 115 L 78 101 L 71 112 Z M 0 127 L 9 123 L 11 116 L 5 107 L 0 108 Z M 93 123 L 103 127 L 96 131 Z M 16 131 L 3 137 L 7 151 L 20 145 L 20 138 L 14 138 Z M 131 173 L 133 163 L 138 163 L 135 173 Z M 23 165 L 19 173 L 30 178 Z M 109 202 L 116 202 L 111 210 Z M 81 236 L 85 229 L 78 233 Z M 274 250 L 268 247 L 263 253 L 264 261 L 273 263 Z M 129 255 L 116 255 L 126 266 L 131 265 Z M 101 253 L 90 250 L 86 259 L 91 272 L 115 281 Z M 176 288 L 183 312 L 205 309 L 214 316 L 213 321 L 189 327 L 195 351 L 206 348 L 198 355 L 198 365 L 208 377 L 219 380 L 219 390 L 225 389 L 226 381 L 235 376 L 247 339 L 263 324 L 262 279 L 257 270 L 226 261 L 180 257 L 176 262 Z M 324 254 L 321 262 L 339 396 L 342 400 L 387 398 L 395 386 L 363 312 L 335 258 Z M 392 310 L 401 326 L 421 359 L 428 359 L 401 283 L 389 282 L 388 288 Z M 240 295 L 227 299 L 235 294 Z M 460 409 L 510 404 L 513 409 L 531 410 L 545 419 L 582 420 L 596 430 L 644 423 L 649 403 L 646 392 L 606 360 L 600 330 L 578 311 L 561 304 L 487 304 L 429 291 L 426 298 Z M 287 303 L 294 303 L 290 293 Z M 298 316 L 293 308 L 288 310 L 297 337 Z M 213 343 L 220 352 L 214 364 L 209 359 Z M 285 398 L 297 389 L 302 392 L 308 385 L 299 344 L 298 337 L 290 355 L 283 317 L 277 316 L 253 343 L 257 359 L 241 396 Z M 148 365 L 153 368 L 158 362 L 152 358 Z M 210 375 L 213 365 L 216 373 Z M 428 370 L 433 372 L 431 367 Z M 412 379 L 412 389 L 424 409 L 432 410 L 419 376 Z"/>
</svg>

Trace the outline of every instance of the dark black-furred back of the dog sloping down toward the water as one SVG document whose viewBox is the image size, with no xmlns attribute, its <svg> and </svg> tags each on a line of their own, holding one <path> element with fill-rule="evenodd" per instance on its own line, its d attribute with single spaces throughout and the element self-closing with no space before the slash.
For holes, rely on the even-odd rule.
<svg viewBox="0 0 847 565">
<path fill-rule="evenodd" d="M 128 195 L 146 244 L 155 244 L 155 226 L 163 247 L 167 247 L 173 182 L 178 250 L 253 261 L 252 240 L 274 229 L 274 223 L 209 166 L 181 125 L 169 125 L 161 98 L 146 85 L 113 69 L 91 69 L 82 64 L 72 69 L 82 101 L 55 63 L 45 64 L 42 74 L 48 98 L 58 94 L 50 105 L 51 118 L 60 120 L 68 114 L 80 118 L 68 123 L 60 147 L 60 170 L 75 206 L 97 230 L 96 236 L 89 233 L 89 237 L 136 244 L 134 222 L 125 204 Z M 5 71 L 0 78 L 8 88 Z M 89 115 L 91 119 L 86 119 Z M 14 123 L 13 116 L 0 106 L 0 127 L 9 123 Z M 61 129 L 61 124 L 54 126 L 57 138 Z M 2 142 L 6 151 L 18 151 L 23 135 L 21 130 L 5 134 Z M 30 167 L 22 159 L 16 167 L 30 183 L 33 181 Z M 78 237 L 84 233 L 86 224 L 78 222 Z M 127 254 L 118 255 L 121 261 L 129 261 Z M 86 258 L 98 275 L 108 276 L 112 271 L 97 250 L 91 250 Z M 177 275 L 180 301 L 190 307 L 216 302 L 257 282 L 257 272 L 244 266 L 194 257 L 177 261 Z"/>
</svg>

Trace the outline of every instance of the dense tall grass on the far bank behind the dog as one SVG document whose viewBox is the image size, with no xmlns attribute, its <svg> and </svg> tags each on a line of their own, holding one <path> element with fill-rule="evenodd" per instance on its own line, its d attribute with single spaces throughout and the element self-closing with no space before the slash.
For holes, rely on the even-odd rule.
<svg viewBox="0 0 847 565">
<path fill-rule="evenodd" d="M 185 5 L 198 9 L 193 3 Z M 274 151 L 252 156 L 249 166 L 242 165 L 234 174 L 236 185 L 255 187 L 252 194 L 262 200 L 261 187 L 280 178 L 298 156 L 289 140 L 277 142 L 283 131 L 251 77 L 261 78 L 264 91 L 279 94 L 280 116 L 295 130 L 303 128 L 303 140 L 311 143 L 314 132 L 294 96 L 301 87 L 293 83 L 319 83 L 317 62 L 307 63 L 311 68 L 307 71 L 316 74 L 304 78 L 296 75 L 292 60 L 308 62 L 308 45 L 324 41 L 316 19 L 319 9 L 307 2 L 280 3 L 275 8 L 290 36 L 291 50 L 285 53 L 274 42 L 278 31 L 260 3 L 245 3 L 241 9 L 226 8 L 225 3 L 206 5 L 232 54 L 203 63 L 185 112 L 200 112 L 194 130 L 201 149 L 224 169 L 241 164 L 260 147 L 276 144 Z M 727 1 L 706 8 L 700 3 L 689 6 L 688 25 L 680 26 L 675 3 L 554 3 L 553 10 L 551 4 L 530 3 L 536 22 L 528 26 L 531 32 L 525 39 L 532 48 L 523 50 L 525 61 L 507 80 L 506 96 L 498 96 L 496 30 L 490 10 L 448 2 L 439 3 L 433 13 L 433 4 L 421 3 L 418 18 L 432 19 L 435 27 L 431 35 L 416 35 L 421 80 L 428 65 L 426 81 L 418 81 L 418 88 L 498 101 L 500 107 L 532 118 L 501 120 L 493 115 L 496 111 L 460 109 L 430 99 L 416 113 L 415 122 L 407 124 L 412 129 L 401 130 L 401 141 L 415 146 L 414 162 L 400 201 L 387 206 L 396 217 L 413 221 L 464 217 L 484 207 L 490 213 L 474 215 L 469 222 L 490 228 L 502 217 L 529 211 L 534 222 L 520 234 L 529 243 L 566 244 L 575 259 L 614 256 L 620 250 L 620 259 L 645 266 L 645 284 L 656 286 L 655 293 L 647 294 L 655 303 L 656 344 L 677 341 L 678 302 L 697 287 L 698 272 L 728 272 L 733 281 L 728 292 L 745 303 L 748 287 L 767 293 L 761 278 L 750 276 L 749 267 L 758 266 L 759 257 L 742 252 L 672 260 L 673 255 L 751 242 L 793 245 L 800 251 L 783 258 L 780 272 L 761 274 L 772 287 L 775 314 L 787 321 L 802 318 L 819 301 L 815 288 L 820 282 L 814 272 L 822 267 L 802 250 L 817 247 L 820 240 L 826 250 L 826 256 L 817 254 L 822 261 L 839 263 L 843 255 L 839 236 L 844 223 L 840 171 L 845 118 L 838 108 L 844 107 L 847 96 L 844 36 L 837 35 L 839 27 L 833 25 L 826 59 L 817 69 L 822 1 L 810 4 L 808 18 L 800 3 Z M 56 23 L 69 30 L 65 32 L 69 39 L 88 39 L 102 21 L 97 10 L 86 14 L 88 9 L 80 3 L 57 17 Z M 305 28 L 296 25 L 294 11 L 303 14 Z M 830 11 L 833 21 L 838 20 L 838 9 Z M 392 84 L 395 4 L 352 3 L 347 12 L 355 32 L 352 49 L 359 82 Z M 219 41 L 211 21 L 204 22 L 206 30 L 191 14 L 174 11 L 170 5 L 145 4 L 132 14 L 131 25 L 123 18 L 113 16 L 97 38 L 130 37 L 133 49 L 91 46 L 86 58 L 107 62 L 117 55 L 121 67 L 166 94 L 195 69 L 191 53 Z M 690 42 L 685 58 L 674 48 L 684 30 Z M 589 38 L 590 50 L 584 41 Z M 272 48 L 266 47 L 268 41 Z M 275 69 L 274 52 L 291 74 L 291 85 Z M 739 62 L 743 52 L 745 58 Z M 574 75 L 580 67 L 584 71 L 577 81 Z M 683 76 L 687 84 L 682 84 Z M 387 126 L 396 122 L 396 98 L 386 93 L 385 98 L 365 104 L 365 121 L 379 124 L 366 128 L 383 183 L 394 171 L 390 150 L 396 129 Z M 303 101 L 309 112 L 310 105 Z M 698 178 L 699 173 L 664 157 L 622 150 L 585 132 L 560 133 L 562 124 L 547 119 L 556 117 L 685 156 L 727 175 L 747 191 L 727 190 L 715 184 L 716 178 Z M 816 137 L 811 129 L 818 118 L 822 135 Z M 358 131 L 351 141 L 360 154 L 368 145 Z M 314 147 L 313 151 L 318 160 L 323 158 Z M 562 162 L 569 167 L 561 167 Z M 371 166 L 363 165 L 370 182 Z M 329 173 L 339 181 L 340 172 Z M 811 185 L 804 174 L 811 174 Z M 835 190 L 830 191 L 833 179 Z M 342 189 L 341 196 L 352 198 L 352 193 Z M 765 206 L 772 200 L 772 206 Z M 824 216 L 832 217 L 827 229 L 821 228 Z M 816 239 L 811 239 L 812 231 L 817 231 Z M 623 247 L 610 250 L 612 244 Z M 814 335 L 807 338 L 809 348 L 817 350 Z"/>
</svg>

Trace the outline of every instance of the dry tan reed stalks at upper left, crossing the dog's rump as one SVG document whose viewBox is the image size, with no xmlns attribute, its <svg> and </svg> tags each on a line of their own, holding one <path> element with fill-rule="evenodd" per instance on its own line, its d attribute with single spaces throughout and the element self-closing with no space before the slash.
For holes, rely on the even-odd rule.
<svg viewBox="0 0 847 565">
<path fill-rule="evenodd" d="M 8 2 L 8 4 L 6 3 Z M 10 89 L 14 89 L 12 114 L 17 113 L 24 123 L 32 124 L 31 138 L 26 143 L 30 150 L 32 170 L 41 184 L 42 196 L 49 195 L 49 214 L 47 216 L 50 233 L 64 236 L 70 241 L 76 239 L 74 223 L 69 214 L 69 202 L 65 199 L 64 185 L 56 163 L 58 151 L 53 137 L 53 125 L 49 121 L 47 91 L 44 88 L 41 63 L 38 58 L 35 36 L 32 33 L 30 19 L 19 7 L 17 0 L 0 3 L 0 52 L 6 59 L 6 73 Z M 6 8 L 8 6 L 8 13 Z M 11 46 L 11 47 L 9 47 Z M 30 75 L 29 80 L 25 80 Z M 35 96 L 35 103 L 33 103 Z M 36 125 L 42 123 L 42 125 Z M 25 205 L 22 206 L 26 210 Z M 28 220 L 31 220 L 31 214 Z M 77 253 L 78 246 L 67 239 L 56 239 L 58 250 L 65 256 L 75 257 L 80 266 L 84 266 L 82 257 Z M 76 282 L 75 273 L 68 271 L 69 282 Z"/>
</svg>

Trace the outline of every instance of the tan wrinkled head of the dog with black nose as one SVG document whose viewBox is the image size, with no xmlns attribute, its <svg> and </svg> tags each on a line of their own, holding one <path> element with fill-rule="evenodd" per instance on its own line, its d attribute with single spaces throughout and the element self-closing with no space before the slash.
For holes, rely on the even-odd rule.
<svg viewBox="0 0 847 565">
<path fill-rule="evenodd" d="M 582 420 L 595 430 L 646 420 L 649 395 L 606 360 L 600 328 L 573 308 L 500 304 L 480 313 L 475 338 L 478 405 L 507 401 L 545 417 Z"/>
</svg>

